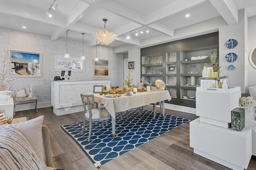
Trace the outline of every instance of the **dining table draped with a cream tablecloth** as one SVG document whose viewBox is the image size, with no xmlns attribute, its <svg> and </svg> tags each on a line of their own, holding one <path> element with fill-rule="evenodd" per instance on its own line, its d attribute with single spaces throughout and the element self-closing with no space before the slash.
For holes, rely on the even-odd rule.
<svg viewBox="0 0 256 170">
<path fill-rule="evenodd" d="M 93 94 L 93 93 L 90 93 Z M 94 100 L 99 104 L 104 104 L 112 117 L 112 137 L 115 139 L 116 129 L 116 113 L 127 111 L 132 108 L 162 102 L 162 115 L 164 114 L 164 100 L 170 101 L 172 98 L 168 90 L 151 90 L 150 92 L 137 92 L 136 94 L 127 96 L 121 94 L 116 96 L 105 96 L 94 93 Z"/>
</svg>

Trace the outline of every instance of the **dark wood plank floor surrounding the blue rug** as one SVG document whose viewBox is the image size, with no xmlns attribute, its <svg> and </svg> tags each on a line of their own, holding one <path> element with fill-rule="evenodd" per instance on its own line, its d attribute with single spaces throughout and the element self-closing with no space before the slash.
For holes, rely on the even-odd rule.
<svg viewBox="0 0 256 170">
<path fill-rule="evenodd" d="M 151 106 L 144 106 L 152 110 Z M 160 111 L 160 108 L 156 109 Z M 177 115 L 190 120 L 194 114 L 166 109 L 170 115 Z M 60 128 L 61 125 L 82 121 L 82 112 L 56 116 L 51 107 L 17 111 L 16 116 L 33 119 L 44 115 L 44 125 L 50 129 L 50 139 L 54 165 L 64 170 L 97 169 L 78 145 Z M 232 142 L 232 141 L 230 141 Z M 235 148 L 234 148 L 235 149 Z M 239 156 L 239 153 L 238 153 Z M 189 146 L 189 123 L 156 137 L 122 156 L 104 164 L 101 170 L 228 170 L 216 162 L 194 154 Z M 248 170 L 256 170 L 256 156 L 252 156 Z"/>
</svg>

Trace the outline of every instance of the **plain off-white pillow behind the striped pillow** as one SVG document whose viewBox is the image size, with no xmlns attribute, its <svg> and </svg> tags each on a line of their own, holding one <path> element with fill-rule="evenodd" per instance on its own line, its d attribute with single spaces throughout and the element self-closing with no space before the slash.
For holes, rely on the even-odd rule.
<svg viewBox="0 0 256 170">
<path fill-rule="evenodd" d="M 39 116 L 34 119 L 24 121 L 21 123 L 12 124 L 13 127 L 18 129 L 22 135 L 28 140 L 36 155 L 45 162 L 44 160 L 44 146 L 42 141 L 42 124 L 44 116 Z M 0 125 L 0 130 L 6 127 L 8 124 Z"/>
</svg>

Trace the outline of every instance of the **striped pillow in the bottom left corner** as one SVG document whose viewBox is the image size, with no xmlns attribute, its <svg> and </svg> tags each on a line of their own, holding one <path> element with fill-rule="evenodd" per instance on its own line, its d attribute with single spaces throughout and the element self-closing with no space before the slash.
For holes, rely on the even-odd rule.
<svg viewBox="0 0 256 170">
<path fill-rule="evenodd" d="M 0 165 L 8 170 L 46 170 L 22 133 L 8 125 L 0 130 Z"/>
</svg>

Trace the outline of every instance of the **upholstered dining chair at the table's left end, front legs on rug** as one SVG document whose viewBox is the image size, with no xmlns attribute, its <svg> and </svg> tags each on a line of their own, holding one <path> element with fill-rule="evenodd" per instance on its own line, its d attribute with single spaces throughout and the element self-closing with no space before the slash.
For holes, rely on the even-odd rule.
<svg viewBox="0 0 256 170">
<path fill-rule="evenodd" d="M 90 141 L 91 132 L 92 132 L 92 122 L 93 121 L 102 121 L 102 127 L 104 126 L 104 121 L 106 121 L 106 125 L 108 125 L 108 119 L 111 119 L 111 115 L 108 113 L 107 109 L 104 105 L 99 104 L 98 108 L 94 108 L 97 106 L 97 103 L 94 101 L 93 94 L 80 94 L 82 99 L 82 104 L 84 107 L 84 125 L 81 132 L 81 135 L 84 133 L 84 127 L 86 121 L 89 121 L 89 135 L 88 142 Z M 87 106 L 87 109 L 86 109 Z"/>
</svg>

